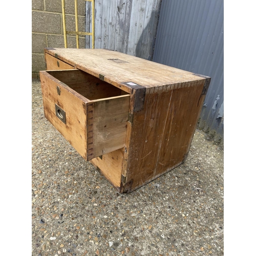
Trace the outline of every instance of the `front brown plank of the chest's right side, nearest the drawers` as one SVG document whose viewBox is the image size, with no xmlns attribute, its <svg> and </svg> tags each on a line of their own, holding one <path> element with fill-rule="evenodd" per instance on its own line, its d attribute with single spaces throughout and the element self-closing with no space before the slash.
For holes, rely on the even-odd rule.
<svg viewBox="0 0 256 256">
<path fill-rule="evenodd" d="M 172 90 L 170 86 L 146 91 L 144 111 L 134 113 L 126 189 L 134 189 L 155 175 Z M 138 117 L 140 119 L 138 119 Z M 138 132 L 137 132 L 138 131 Z"/>
</svg>

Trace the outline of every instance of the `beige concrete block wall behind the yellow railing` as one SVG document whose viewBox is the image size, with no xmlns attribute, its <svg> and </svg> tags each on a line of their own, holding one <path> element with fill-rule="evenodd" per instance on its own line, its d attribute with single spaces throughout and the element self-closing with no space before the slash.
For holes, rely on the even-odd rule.
<svg viewBox="0 0 256 256">
<path fill-rule="evenodd" d="M 78 30 L 85 31 L 86 1 L 78 0 Z M 66 30 L 75 31 L 74 0 L 65 0 Z M 89 32 L 89 31 L 87 31 Z M 76 48 L 76 36 L 67 36 L 68 48 Z M 79 48 L 85 48 L 79 36 Z M 44 48 L 64 48 L 61 0 L 32 0 L 32 79 L 46 70 Z"/>
</svg>

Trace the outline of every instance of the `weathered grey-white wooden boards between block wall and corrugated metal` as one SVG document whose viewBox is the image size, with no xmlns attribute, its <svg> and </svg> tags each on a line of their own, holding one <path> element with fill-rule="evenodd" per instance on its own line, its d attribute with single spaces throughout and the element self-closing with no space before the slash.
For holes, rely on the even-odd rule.
<svg viewBox="0 0 256 256">
<path fill-rule="evenodd" d="M 153 57 L 161 0 L 95 0 L 95 48 Z M 91 31 L 91 3 L 86 3 L 86 31 Z M 91 39 L 86 36 L 86 48 Z"/>
</svg>

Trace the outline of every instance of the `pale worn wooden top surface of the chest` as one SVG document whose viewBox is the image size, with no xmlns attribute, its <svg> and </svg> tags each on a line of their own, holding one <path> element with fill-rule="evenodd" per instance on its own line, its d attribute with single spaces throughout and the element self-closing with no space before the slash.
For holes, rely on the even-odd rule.
<svg viewBox="0 0 256 256">
<path fill-rule="evenodd" d="M 135 82 L 151 88 L 205 79 L 188 71 L 106 49 L 46 48 L 45 53 L 111 83 Z"/>
</svg>

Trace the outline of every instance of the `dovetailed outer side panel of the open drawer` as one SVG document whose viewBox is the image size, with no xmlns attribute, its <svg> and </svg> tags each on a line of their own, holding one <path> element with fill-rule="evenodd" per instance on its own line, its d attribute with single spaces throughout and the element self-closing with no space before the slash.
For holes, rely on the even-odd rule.
<svg viewBox="0 0 256 256">
<path fill-rule="evenodd" d="M 130 95 L 87 103 L 88 160 L 124 147 L 129 104 Z"/>
</svg>

